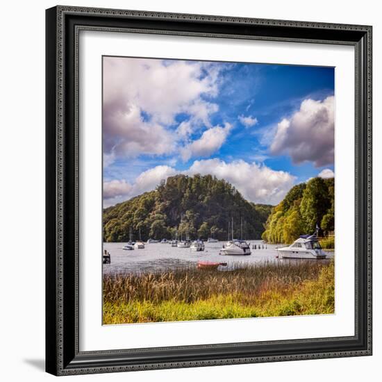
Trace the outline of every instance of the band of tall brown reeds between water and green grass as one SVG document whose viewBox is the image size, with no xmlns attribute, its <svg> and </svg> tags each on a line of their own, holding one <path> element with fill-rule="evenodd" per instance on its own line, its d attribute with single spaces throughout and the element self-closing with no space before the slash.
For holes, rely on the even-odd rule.
<svg viewBox="0 0 382 382">
<path fill-rule="evenodd" d="M 176 300 L 190 303 L 214 294 L 240 292 L 254 296 L 269 285 L 282 288 L 315 278 L 321 269 L 322 263 L 315 261 L 281 260 L 227 272 L 190 267 L 158 274 L 104 276 L 103 299 L 108 302 Z"/>
</svg>

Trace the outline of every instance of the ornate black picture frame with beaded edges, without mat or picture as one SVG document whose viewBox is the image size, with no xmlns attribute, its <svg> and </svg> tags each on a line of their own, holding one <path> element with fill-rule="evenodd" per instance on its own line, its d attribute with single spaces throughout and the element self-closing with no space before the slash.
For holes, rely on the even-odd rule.
<svg viewBox="0 0 382 382">
<path fill-rule="evenodd" d="M 81 352 L 78 346 L 80 30 L 346 44 L 355 48 L 355 335 Z M 57 6 L 47 10 L 46 369 L 55 375 L 372 354 L 372 27 Z M 128 347 L 128 344 L 126 344 Z"/>
</svg>

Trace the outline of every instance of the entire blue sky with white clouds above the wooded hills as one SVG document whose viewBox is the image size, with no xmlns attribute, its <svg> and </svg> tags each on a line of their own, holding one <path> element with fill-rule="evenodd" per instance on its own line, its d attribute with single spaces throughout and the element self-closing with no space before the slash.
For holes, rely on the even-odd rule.
<svg viewBox="0 0 382 382">
<path fill-rule="evenodd" d="M 332 67 L 105 57 L 103 89 L 106 206 L 178 173 L 270 204 L 334 175 Z"/>
</svg>

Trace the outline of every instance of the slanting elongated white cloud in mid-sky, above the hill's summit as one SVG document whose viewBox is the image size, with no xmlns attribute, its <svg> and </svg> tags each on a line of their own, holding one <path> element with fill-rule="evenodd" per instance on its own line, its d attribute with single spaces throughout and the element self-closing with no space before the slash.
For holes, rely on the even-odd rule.
<svg viewBox="0 0 382 382">
<path fill-rule="evenodd" d="M 201 138 L 194 140 L 181 149 L 183 160 L 189 160 L 194 156 L 210 156 L 222 147 L 231 131 L 232 125 L 229 123 L 222 126 L 214 126 L 204 131 Z"/>
</svg>

